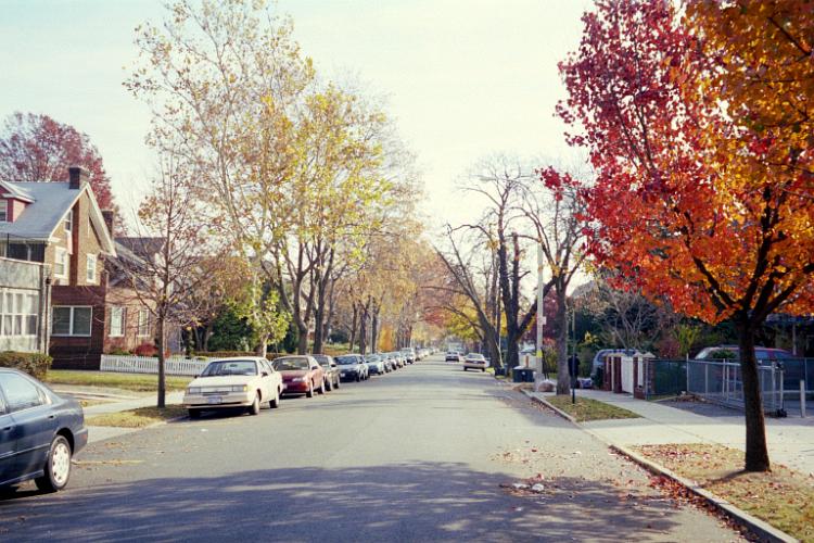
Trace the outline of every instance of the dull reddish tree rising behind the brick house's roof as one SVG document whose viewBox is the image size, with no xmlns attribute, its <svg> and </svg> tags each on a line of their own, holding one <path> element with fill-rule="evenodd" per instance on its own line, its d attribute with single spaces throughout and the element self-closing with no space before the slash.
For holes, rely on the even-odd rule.
<svg viewBox="0 0 814 543">
<path fill-rule="evenodd" d="M 87 134 L 42 114 L 16 112 L 5 119 L 0 131 L 0 179 L 66 181 L 71 166 L 88 171 L 103 210 L 114 206 L 102 157 Z"/>
</svg>

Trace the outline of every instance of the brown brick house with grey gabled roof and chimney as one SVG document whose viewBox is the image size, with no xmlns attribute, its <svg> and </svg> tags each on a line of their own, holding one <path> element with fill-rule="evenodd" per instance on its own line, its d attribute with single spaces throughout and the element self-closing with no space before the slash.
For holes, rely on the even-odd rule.
<svg viewBox="0 0 814 543">
<path fill-rule="evenodd" d="M 98 369 L 103 352 L 152 342 L 149 312 L 110 285 L 112 226 L 81 168 L 69 168 L 68 182 L 0 181 L 0 255 L 51 269 L 46 321 L 55 368 Z"/>
</svg>

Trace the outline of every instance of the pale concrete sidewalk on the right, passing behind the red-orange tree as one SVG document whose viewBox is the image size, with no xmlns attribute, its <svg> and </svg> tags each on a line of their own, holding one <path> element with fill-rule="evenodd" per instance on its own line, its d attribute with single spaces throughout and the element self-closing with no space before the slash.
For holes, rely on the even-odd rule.
<svg viewBox="0 0 814 543">
<path fill-rule="evenodd" d="M 549 393 L 531 393 L 545 399 Z M 616 445 L 665 443 L 720 443 L 746 447 L 746 427 L 739 412 L 707 416 L 628 394 L 577 390 L 583 397 L 599 400 L 636 413 L 641 418 L 581 422 L 586 430 Z M 802 473 L 814 475 L 814 418 L 766 418 L 768 452 L 773 462 Z"/>
</svg>

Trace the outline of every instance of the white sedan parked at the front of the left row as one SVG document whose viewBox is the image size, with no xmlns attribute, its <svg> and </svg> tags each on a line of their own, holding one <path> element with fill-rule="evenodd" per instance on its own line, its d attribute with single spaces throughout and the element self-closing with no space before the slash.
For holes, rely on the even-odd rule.
<svg viewBox="0 0 814 543">
<path fill-rule="evenodd" d="M 183 407 L 190 418 L 201 412 L 243 407 L 252 415 L 265 403 L 279 407 L 282 376 L 266 358 L 241 356 L 211 362 L 187 387 Z"/>
</svg>

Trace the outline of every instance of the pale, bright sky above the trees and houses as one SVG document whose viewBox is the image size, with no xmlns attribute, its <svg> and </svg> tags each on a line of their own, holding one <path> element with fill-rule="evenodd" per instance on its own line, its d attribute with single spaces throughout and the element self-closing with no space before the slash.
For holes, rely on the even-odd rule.
<svg viewBox="0 0 814 543">
<path fill-rule="evenodd" d="M 456 178 L 495 152 L 570 151 L 554 116 L 557 62 L 576 48 L 588 0 L 279 0 L 323 77 L 355 74 L 418 155 L 432 226 L 478 210 Z M 152 0 L 0 0 L 0 117 L 46 113 L 88 134 L 123 209 L 152 169 L 147 108 L 122 81 L 133 28 L 158 21 Z"/>
</svg>

